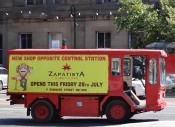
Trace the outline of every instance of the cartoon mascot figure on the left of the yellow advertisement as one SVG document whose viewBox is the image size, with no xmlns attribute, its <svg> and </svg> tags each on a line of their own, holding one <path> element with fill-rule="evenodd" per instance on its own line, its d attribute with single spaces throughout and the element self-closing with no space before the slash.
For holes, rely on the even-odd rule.
<svg viewBox="0 0 175 127">
<path fill-rule="evenodd" d="M 26 91 L 27 87 L 27 75 L 32 72 L 32 68 L 29 67 L 27 64 L 20 64 L 16 68 L 16 84 L 15 90 L 17 89 L 17 82 L 20 82 L 20 86 L 23 88 L 23 91 Z"/>
</svg>

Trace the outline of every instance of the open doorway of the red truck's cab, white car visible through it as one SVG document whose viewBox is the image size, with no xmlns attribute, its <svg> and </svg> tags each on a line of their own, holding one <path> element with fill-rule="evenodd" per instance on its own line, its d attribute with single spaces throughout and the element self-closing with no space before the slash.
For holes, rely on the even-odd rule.
<svg viewBox="0 0 175 127">
<path fill-rule="evenodd" d="M 139 98 L 145 98 L 145 58 L 140 56 L 125 56 L 124 85 Z"/>
</svg>

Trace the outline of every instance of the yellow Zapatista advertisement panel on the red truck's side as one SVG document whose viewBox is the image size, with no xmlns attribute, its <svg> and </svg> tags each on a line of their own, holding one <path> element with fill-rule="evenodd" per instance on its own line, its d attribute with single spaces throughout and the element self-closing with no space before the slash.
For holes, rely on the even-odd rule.
<svg viewBox="0 0 175 127">
<path fill-rule="evenodd" d="M 107 93 L 107 55 L 9 56 L 9 92 Z"/>
</svg>

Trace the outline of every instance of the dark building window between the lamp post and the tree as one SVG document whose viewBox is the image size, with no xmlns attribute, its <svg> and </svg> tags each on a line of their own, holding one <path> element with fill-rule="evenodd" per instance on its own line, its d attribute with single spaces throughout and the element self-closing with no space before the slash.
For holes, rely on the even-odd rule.
<svg viewBox="0 0 175 127">
<path fill-rule="evenodd" d="M 96 32 L 97 48 L 111 47 L 111 33 L 110 32 Z"/>
</svg>

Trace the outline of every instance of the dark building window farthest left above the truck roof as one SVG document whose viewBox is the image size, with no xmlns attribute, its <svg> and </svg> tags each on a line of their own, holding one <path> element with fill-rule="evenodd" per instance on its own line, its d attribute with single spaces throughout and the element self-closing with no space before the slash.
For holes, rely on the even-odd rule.
<svg viewBox="0 0 175 127">
<path fill-rule="evenodd" d="M 32 34 L 22 33 L 20 36 L 20 48 L 21 49 L 31 49 L 32 48 Z"/>
</svg>

